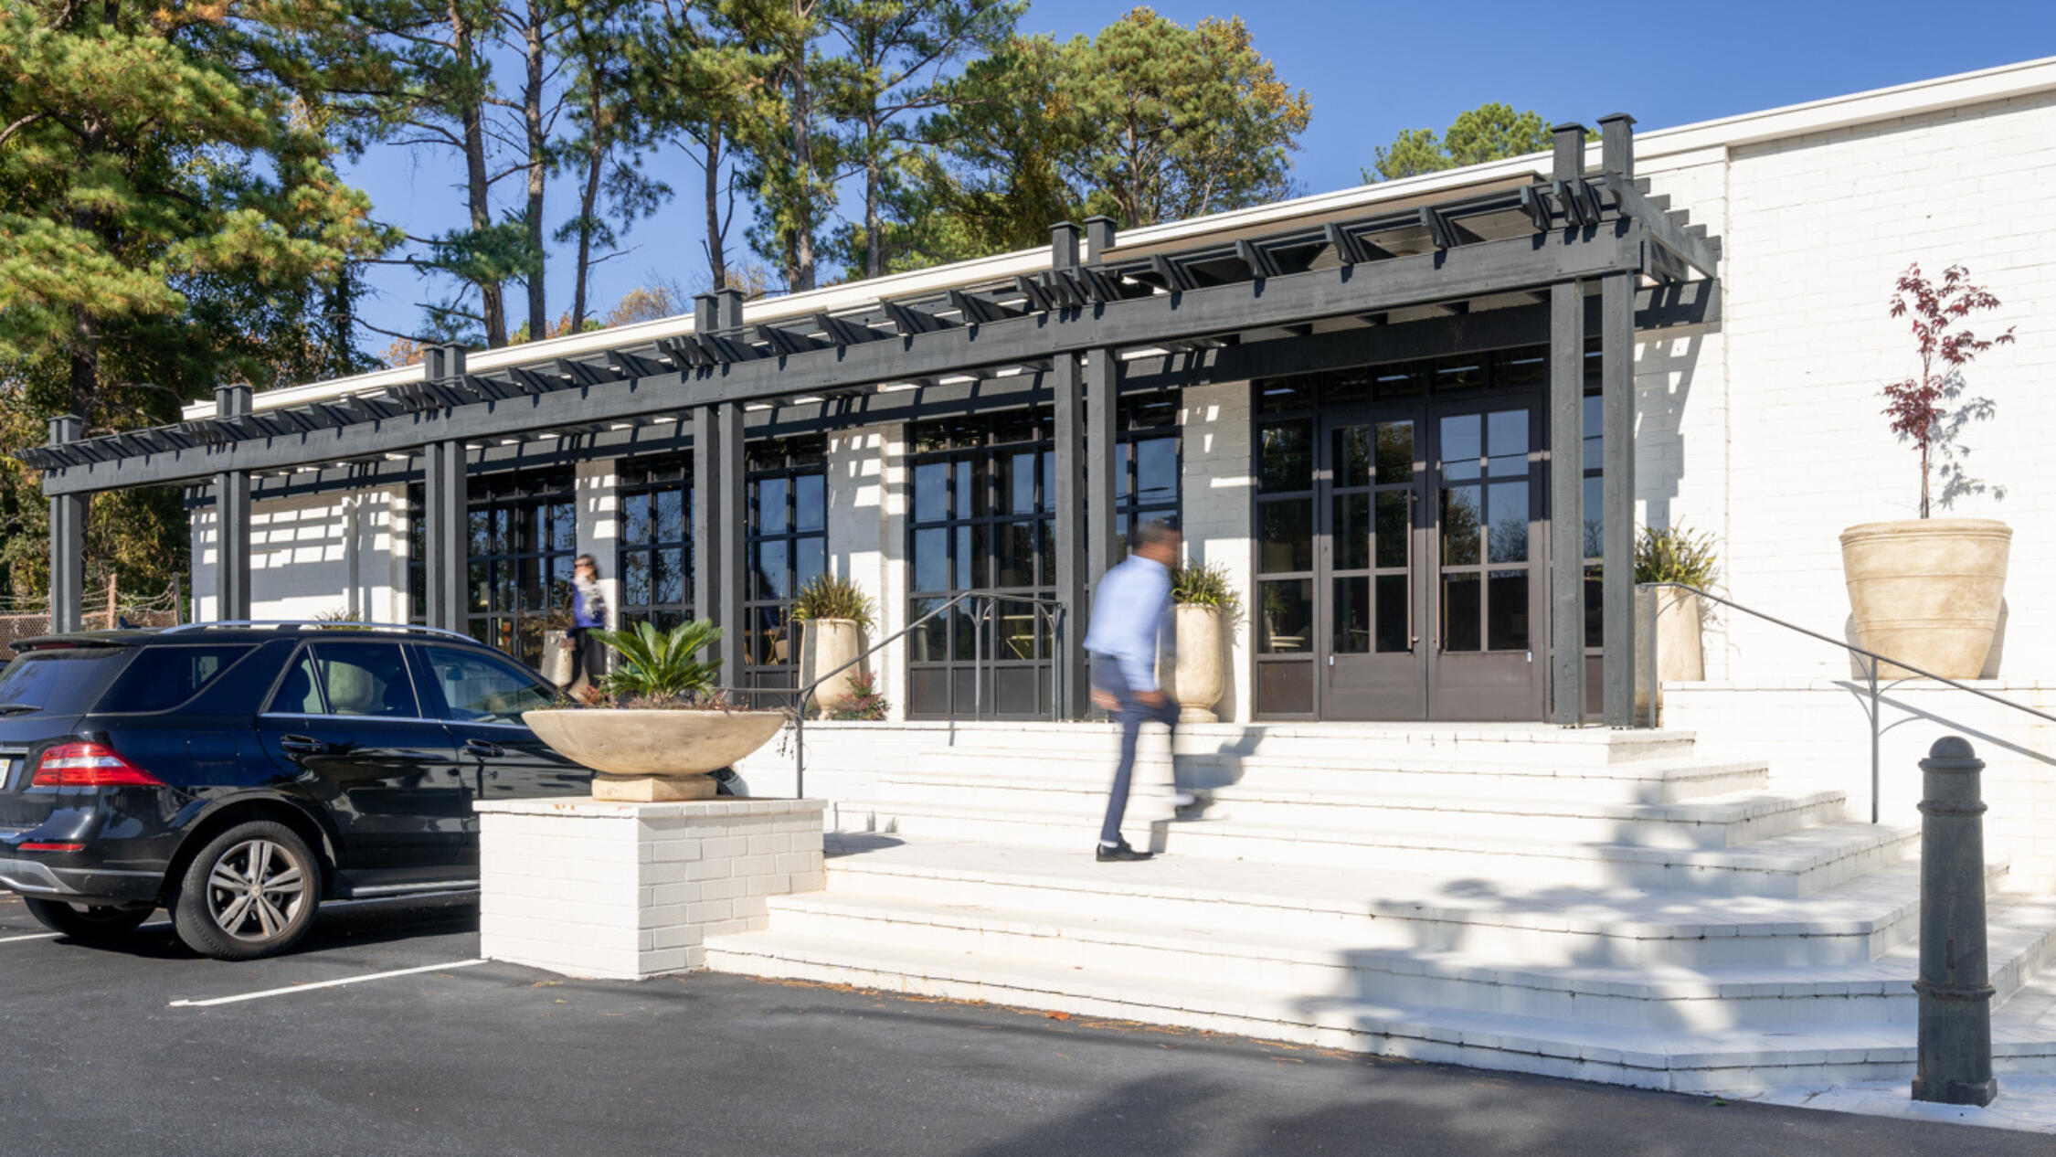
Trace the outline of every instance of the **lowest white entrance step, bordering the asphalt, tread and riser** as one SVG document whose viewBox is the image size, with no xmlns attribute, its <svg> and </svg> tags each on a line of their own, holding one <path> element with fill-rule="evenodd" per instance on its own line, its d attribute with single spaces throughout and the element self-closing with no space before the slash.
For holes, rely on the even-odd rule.
<svg viewBox="0 0 2056 1157">
<path fill-rule="evenodd" d="M 1308 999 L 1234 976 L 1094 972 L 991 951 L 845 943 L 777 927 L 707 941 L 707 966 L 1676 1091 L 1904 1079 L 1914 1065 L 1914 1028 L 1904 1023 L 1776 1034 L 1630 1030 L 1361 997 Z M 2003 1069 L 2056 1067 L 2050 1038 L 2005 1034 L 1994 1052 Z"/>
</svg>

